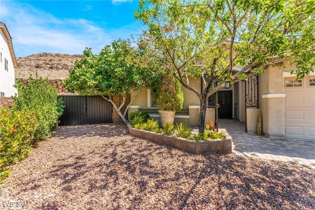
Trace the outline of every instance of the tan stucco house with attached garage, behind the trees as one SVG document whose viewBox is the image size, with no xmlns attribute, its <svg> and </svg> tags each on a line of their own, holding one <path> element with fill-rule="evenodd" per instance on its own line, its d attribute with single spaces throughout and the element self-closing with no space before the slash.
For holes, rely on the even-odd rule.
<svg viewBox="0 0 315 210">
<path fill-rule="evenodd" d="M 257 130 L 257 114 L 262 111 L 262 132 L 269 138 L 293 138 L 315 140 L 315 73 L 295 81 L 290 74 L 294 66 L 285 63 L 284 69 L 269 66 L 264 73 L 252 76 L 248 81 L 231 84 L 210 97 L 206 123 L 215 120 L 215 104 L 219 104 L 218 117 L 237 118 L 246 123 L 248 132 Z M 190 78 L 189 85 L 200 91 L 200 79 Z M 182 87 L 184 108 L 176 113 L 175 122 L 198 126 L 200 101 L 197 96 Z M 130 94 L 130 98 L 135 96 Z M 157 106 L 152 89 L 143 88 L 132 102 L 128 112 L 145 110 L 158 119 Z M 220 123 L 220 121 L 219 121 Z"/>
</svg>

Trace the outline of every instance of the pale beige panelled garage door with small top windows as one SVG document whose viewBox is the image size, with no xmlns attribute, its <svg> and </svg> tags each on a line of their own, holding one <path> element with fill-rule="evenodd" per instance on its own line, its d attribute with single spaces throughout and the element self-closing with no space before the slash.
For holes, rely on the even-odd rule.
<svg viewBox="0 0 315 210">
<path fill-rule="evenodd" d="M 285 78 L 285 137 L 315 140 L 315 83 L 294 80 Z"/>
</svg>

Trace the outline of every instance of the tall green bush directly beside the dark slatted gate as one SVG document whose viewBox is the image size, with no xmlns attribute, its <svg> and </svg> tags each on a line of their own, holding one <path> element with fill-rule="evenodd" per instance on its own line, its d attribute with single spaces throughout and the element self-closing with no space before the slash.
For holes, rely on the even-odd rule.
<svg viewBox="0 0 315 210">
<path fill-rule="evenodd" d="M 30 76 L 26 84 L 16 81 L 14 87 L 18 90 L 18 97 L 13 97 L 12 110 L 35 113 L 38 124 L 34 136 L 36 141 L 50 137 L 57 118 L 63 113 L 63 101 L 57 98 L 56 87 L 37 73 L 35 78 Z"/>
</svg>

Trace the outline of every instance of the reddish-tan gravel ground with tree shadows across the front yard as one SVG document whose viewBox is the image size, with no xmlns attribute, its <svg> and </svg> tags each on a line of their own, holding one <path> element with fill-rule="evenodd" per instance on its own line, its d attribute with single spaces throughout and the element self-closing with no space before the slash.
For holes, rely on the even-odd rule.
<svg viewBox="0 0 315 210">
<path fill-rule="evenodd" d="M 313 169 L 191 154 L 121 124 L 59 127 L 12 171 L 0 209 L 315 209 Z"/>
</svg>

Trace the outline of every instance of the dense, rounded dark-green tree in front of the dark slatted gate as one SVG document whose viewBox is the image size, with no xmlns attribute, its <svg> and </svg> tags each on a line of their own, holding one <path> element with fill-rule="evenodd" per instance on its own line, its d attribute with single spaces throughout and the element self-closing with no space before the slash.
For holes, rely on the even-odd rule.
<svg viewBox="0 0 315 210">
<path fill-rule="evenodd" d="M 114 106 L 119 116 L 127 123 L 126 112 L 136 96 L 122 113 L 126 96 L 158 79 L 150 68 L 138 62 L 141 55 L 141 50 L 132 47 L 129 40 L 113 41 L 98 55 L 94 55 L 91 48 L 86 48 L 82 59 L 76 61 L 74 68 L 69 70 L 69 77 L 64 83 L 70 92 L 101 96 Z M 113 95 L 123 96 L 119 106 L 112 101 Z"/>
</svg>

